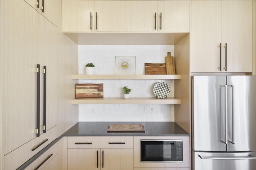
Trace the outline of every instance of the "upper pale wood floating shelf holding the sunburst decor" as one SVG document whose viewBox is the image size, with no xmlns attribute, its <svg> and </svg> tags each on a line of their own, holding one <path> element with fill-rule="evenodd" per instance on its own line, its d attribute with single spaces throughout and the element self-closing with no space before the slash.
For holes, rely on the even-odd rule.
<svg viewBox="0 0 256 170">
<path fill-rule="evenodd" d="M 73 74 L 72 79 L 90 79 L 90 80 L 177 80 L 179 74 L 147 74 L 147 75 L 86 75 Z"/>
</svg>

